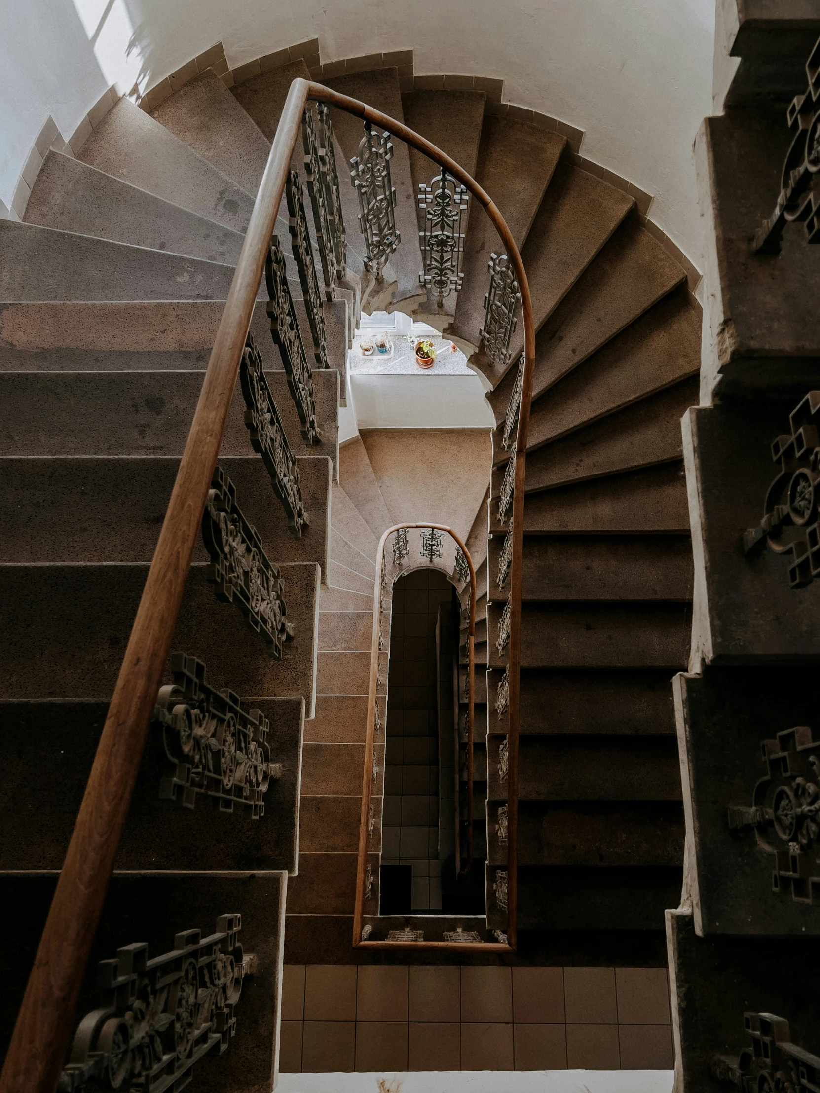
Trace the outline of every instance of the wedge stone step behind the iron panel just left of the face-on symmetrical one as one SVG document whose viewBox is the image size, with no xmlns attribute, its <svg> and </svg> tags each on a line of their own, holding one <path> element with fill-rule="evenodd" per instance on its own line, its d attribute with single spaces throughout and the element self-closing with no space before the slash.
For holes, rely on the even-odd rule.
<svg viewBox="0 0 820 1093">
<path fill-rule="evenodd" d="M 399 77 L 395 68 L 378 69 L 371 72 L 355 72 L 348 75 L 333 77 L 325 80 L 328 87 L 358 98 L 368 106 L 397 121 L 403 121 L 401 109 L 401 93 Z M 349 163 L 356 155 L 359 144 L 364 136 L 362 122 L 350 114 L 331 108 L 333 132 L 341 148 L 342 156 L 337 161 L 339 171 L 339 187 L 342 193 L 344 224 L 351 244 L 356 250 L 364 251 L 364 243 L 359 233 L 359 199 L 355 196 L 350 178 L 343 175 L 350 171 Z M 419 249 L 419 227 L 415 219 L 415 193 L 410 173 L 410 156 L 403 141 L 395 140 L 393 160 L 390 161 L 390 179 L 396 189 L 396 227 L 401 235 L 401 243 L 390 258 L 390 267 L 398 279 L 394 304 L 398 310 L 412 312 L 425 298 L 425 293 L 419 286 L 419 271 L 422 269 L 421 250 Z M 354 270 L 359 272 L 359 270 Z M 400 306 L 399 306 L 400 305 Z"/>
</svg>

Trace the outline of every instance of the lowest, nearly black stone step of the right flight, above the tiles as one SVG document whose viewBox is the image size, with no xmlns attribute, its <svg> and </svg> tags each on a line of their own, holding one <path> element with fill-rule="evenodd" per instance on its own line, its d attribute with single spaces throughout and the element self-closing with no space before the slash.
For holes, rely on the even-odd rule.
<svg viewBox="0 0 820 1093">
<path fill-rule="evenodd" d="M 494 870 L 489 869 L 492 875 Z M 518 870 L 519 930 L 657 930 L 664 912 L 680 902 L 678 867 L 523 866 Z M 506 925 L 506 910 L 487 892 L 490 929 Z"/>
</svg>

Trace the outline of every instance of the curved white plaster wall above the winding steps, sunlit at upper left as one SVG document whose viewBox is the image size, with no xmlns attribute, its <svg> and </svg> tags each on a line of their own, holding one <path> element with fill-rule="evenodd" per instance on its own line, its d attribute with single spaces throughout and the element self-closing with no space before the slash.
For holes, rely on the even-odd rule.
<svg viewBox="0 0 820 1093">
<path fill-rule="evenodd" d="M 65 137 L 112 83 L 122 92 L 134 82 L 148 90 L 216 42 L 235 67 L 318 37 L 323 61 L 413 48 L 417 73 L 503 79 L 508 102 L 585 130 L 583 155 L 654 195 L 652 219 L 700 268 L 691 146 L 712 107 L 714 0 L 5 0 L 0 7 L 7 204 L 46 115 Z"/>
</svg>

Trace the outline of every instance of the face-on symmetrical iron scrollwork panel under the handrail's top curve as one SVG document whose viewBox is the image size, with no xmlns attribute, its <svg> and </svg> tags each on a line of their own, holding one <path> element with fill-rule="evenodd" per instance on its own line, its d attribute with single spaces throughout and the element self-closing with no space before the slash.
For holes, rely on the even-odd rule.
<svg viewBox="0 0 820 1093">
<path fill-rule="evenodd" d="M 444 307 L 450 292 L 459 292 L 464 281 L 464 231 L 461 222 L 470 195 L 465 186 L 442 169 L 430 186 L 419 186 L 419 208 L 424 213 L 424 227 L 419 232 L 424 269 L 419 282 L 432 290 L 436 306 Z"/>
</svg>

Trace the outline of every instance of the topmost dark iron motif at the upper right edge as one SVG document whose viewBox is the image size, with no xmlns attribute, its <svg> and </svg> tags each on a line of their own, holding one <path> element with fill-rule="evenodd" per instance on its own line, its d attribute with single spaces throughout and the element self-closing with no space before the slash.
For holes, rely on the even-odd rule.
<svg viewBox="0 0 820 1093">
<path fill-rule="evenodd" d="M 808 87 L 797 95 L 786 111 L 786 121 L 795 129 L 795 139 L 786 153 L 781 177 L 781 192 L 774 212 L 754 233 L 752 250 L 761 255 L 780 254 L 787 223 L 806 223 L 806 242 L 820 243 L 820 193 L 813 181 L 820 171 L 820 39 L 806 63 Z"/>
</svg>

